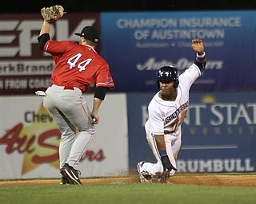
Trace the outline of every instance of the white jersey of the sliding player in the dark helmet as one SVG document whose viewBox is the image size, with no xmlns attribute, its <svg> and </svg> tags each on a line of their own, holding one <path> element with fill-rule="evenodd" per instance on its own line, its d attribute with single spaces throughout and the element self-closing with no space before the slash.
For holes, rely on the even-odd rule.
<svg viewBox="0 0 256 204">
<path fill-rule="evenodd" d="M 179 76 L 175 101 L 162 100 L 159 92 L 154 95 L 148 107 L 149 120 L 145 124 L 146 131 L 154 135 L 164 135 L 181 130 L 189 106 L 190 87 L 200 75 L 200 69 L 193 64 Z"/>
</svg>

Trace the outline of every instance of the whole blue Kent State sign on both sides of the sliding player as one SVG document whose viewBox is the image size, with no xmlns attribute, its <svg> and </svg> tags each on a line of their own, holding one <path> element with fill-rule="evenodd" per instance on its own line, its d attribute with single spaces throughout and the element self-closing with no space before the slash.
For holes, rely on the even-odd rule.
<svg viewBox="0 0 256 204">
<path fill-rule="evenodd" d="M 147 105 L 153 96 L 127 96 L 130 167 L 143 160 L 156 162 L 144 131 Z M 190 109 L 182 124 L 178 172 L 255 171 L 255 101 L 255 92 L 191 93 Z"/>
</svg>

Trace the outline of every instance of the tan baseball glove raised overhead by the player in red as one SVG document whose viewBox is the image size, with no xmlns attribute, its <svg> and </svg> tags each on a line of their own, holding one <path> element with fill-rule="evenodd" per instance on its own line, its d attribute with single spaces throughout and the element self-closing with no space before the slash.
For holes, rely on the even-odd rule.
<svg viewBox="0 0 256 204">
<path fill-rule="evenodd" d="M 42 18 L 48 23 L 54 23 L 58 18 L 62 18 L 64 12 L 63 6 L 55 5 L 50 7 L 43 7 L 41 9 Z"/>
</svg>

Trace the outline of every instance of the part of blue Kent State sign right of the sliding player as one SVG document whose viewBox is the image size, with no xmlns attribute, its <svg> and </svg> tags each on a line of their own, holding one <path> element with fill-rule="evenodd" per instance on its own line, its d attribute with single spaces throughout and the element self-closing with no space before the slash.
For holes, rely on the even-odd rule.
<svg viewBox="0 0 256 204">
<path fill-rule="evenodd" d="M 254 171 L 255 92 L 195 93 L 182 127 L 179 171 Z"/>
</svg>

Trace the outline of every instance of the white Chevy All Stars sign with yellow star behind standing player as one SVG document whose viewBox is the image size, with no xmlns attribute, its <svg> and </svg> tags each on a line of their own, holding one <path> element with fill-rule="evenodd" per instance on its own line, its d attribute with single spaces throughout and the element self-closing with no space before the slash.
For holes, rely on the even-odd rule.
<svg viewBox="0 0 256 204">
<path fill-rule="evenodd" d="M 91 110 L 94 96 L 84 97 Z M 42 97 L 0 97 L 0 112 L 0 179 L 60 178 L 61 134 L 43 108 Z M 126 96 L 109 93 L 99 110 L 100 123 L 95 126 L 94 139 L 77 167 L 82 177 L 114 176 L 127 171 L 126 115 Z"/>
</svg>

